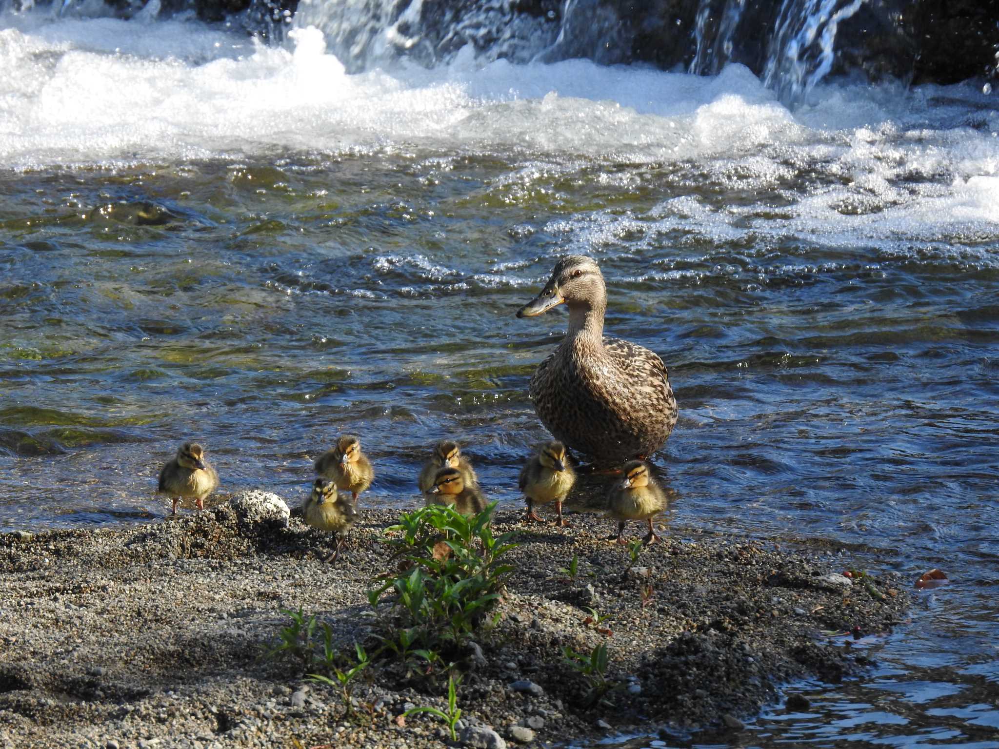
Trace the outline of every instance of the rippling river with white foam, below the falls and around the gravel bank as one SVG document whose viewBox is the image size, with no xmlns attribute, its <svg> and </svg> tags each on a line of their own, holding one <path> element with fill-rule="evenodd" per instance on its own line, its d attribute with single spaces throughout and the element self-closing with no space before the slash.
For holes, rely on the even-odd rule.
<svg viewBox="0 0 999 749">
<path fill-rule="evenodd" d="M 361 435 L 366 501 L 459 437 L 514 506 L 564 315 L 662 355 L 679 528 L 884 549 L 912 622 L 743 745 L 999 747 L 999 113 L 980 84 L 713 77 L 459 53 L 349 73 L 317 29 L 0 23 L 0 528 L 154 521 L 159 466 L 304 497 Z M 846 566 L 852 553 L 833 556 Z M 677 736 L 662 745 L 701 745 Z M 649 742 L 636 739 L 637 745 Z M 718 738 L 721 742 L 722 739 Z"/>
</svg>

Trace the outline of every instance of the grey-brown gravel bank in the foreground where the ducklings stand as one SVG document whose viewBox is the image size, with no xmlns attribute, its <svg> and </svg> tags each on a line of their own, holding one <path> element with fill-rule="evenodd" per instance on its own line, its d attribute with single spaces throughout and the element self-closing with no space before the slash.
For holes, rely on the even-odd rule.
<svg viewBox="0 0 999 749">
<path fill-rule="evenodd" d="M 265 657 L 290 621 L 282 608 L 316 614 L 345 647 L 373 649 L 367 591 L 391 563 L 383 531 L 398 515 L 364 509 L 335 567 L 322 561 L 330 539 L 301 519 L 248 524 L 228 503 L 148 525 L 0 536 L 0 745 L 441 746 L 450 733 L 438 719 L 400 716 L 443 707 L 446 685 L 376 664 L 348 712 L 300 662 Z M 570 528 L 521 517 L 496 515 L 497 533 L 519 533 L 516 572 L 499 623 L 462 663 L 473 746 L 738 731 L 783 699 L 782 683 L 867 666 L 844 630 L 886 631 L 907 605 L 873 549 L 666 528 L 629 569 L 598 515 L 574 513 Z M 573 555 L 571 579 L 559 569 Z M 847 566 L 868 577 L 836 574 Z M 562 647 L 588 654 L 600 643 L 615 688 L 587 707 Z"/>
</svg>

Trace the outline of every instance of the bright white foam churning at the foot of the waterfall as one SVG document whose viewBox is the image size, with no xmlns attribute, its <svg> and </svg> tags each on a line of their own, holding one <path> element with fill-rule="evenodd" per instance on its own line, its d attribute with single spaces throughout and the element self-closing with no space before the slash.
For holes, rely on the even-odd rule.
<svg viewBox="0 0 999 749">
<path fill-rule="evenodd" d="M 744 193 L 824 178 L 796 188 L 793 205 L 776 210 L 784 219 L 755 220 L 758 206 L 719 211 L 691 191 L 640 221 L 608 215 L 568 230 L 597 245 L 620 244 L 650 221 L 714 241 L 822 233 L 844 245 L 919 238 L 941 224 L 980 236 L 999 222 L 999 114 L 971 85 L 820 86 L 792 114 L 738 65 L 702 78 L 584 60 L 481 65 L 465 54 L 433 70 L 400 63 L 350 75 L 315 28 L 269 48 L 198 23 L 3 21 L 8 168 L 426 149 L 430 160 L 516 154 L 522 166 L 487 188 L 514 197 L 587 159 L 689 161 L 697 179 Z M 594 179 L 626 187 L 633 176 Z"/>
</svg>

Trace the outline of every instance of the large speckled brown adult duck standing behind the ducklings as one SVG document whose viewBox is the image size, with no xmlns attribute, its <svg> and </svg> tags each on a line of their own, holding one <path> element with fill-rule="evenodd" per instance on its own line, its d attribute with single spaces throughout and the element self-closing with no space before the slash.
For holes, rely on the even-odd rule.
<svg viewBox="0 0 999 749">
<path fill-rule="evenodd" d="M 530 379 L 537 417 L 556 439 L 594 461 L 648 457 L 676 424 L 676 400 L 662 360 L 603 336 L 606 288 L 590 258 L 559 260 L 541 293 L 516 317 L 541 315 L 562 303 L 568 332 Z"/>
</svg>

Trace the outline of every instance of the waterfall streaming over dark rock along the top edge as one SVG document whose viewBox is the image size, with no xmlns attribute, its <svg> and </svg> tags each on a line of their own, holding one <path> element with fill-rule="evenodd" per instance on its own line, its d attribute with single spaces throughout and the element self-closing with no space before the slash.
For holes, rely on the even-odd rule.
<svg viewBox="0 0 999 749">
<path fill-rule="evenodd" d="M 316 26 L 351 73 L 401 58 L 434 67 L 463 50 L 468 59 L 484 63 L 583 57 L 605 65 L 684 65 L 695 75 L 716 75 L 729 63 L 741 63 L 781 102 L 796 107 L 827 75 L 842 72 L 844 59 L 875 75 L 910 76 L 920 40 L 934 38 L 926 24 L 942 12 L 920 8 L 943 7 L 942 1 L 108 0 L 103 5 L 102 0 L 0 0 L 0 10 L 148 22 L 190 10 L 203 20 L 218 20 L 223 16 L 212 14 L 222 13 L 220 8 L 242 8 L 230 11 L 234 27 L 242 24 L 271 43 L 282 43 L 288 28 Z M 926 27 L 917 28 L 919 23 Z M 988 34 L 978 36 L 990 43 Z M 953 41 L 948 37 L 948 44 Z M 949 49 L 939 45 L 938 65 Z M 990 62 L 991 73 L 995 61 Z M 981 74 L 981 67 L 964 67 L 966 75 Z"/>
</svg>

